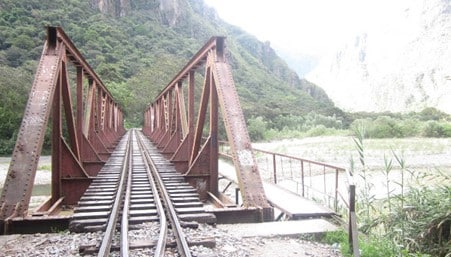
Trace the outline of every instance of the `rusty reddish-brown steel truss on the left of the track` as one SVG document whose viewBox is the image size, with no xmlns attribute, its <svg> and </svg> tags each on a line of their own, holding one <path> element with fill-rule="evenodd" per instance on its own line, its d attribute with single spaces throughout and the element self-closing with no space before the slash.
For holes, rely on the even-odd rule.
<svg viewBox="0 0 451 257">
<path fill-rule="evenodd" d="M 50 122 L 49 122 L 50 120 Z M 50 125 L 51 124 L 51 125 Z M 51 128 L 51 197 L 36 216 L 76 204 L 125 133 L 123 114 L 61 28 L 47 40 L 0 198 L 0 221 L 28 215 L 47 127 Z"/>
</svg>

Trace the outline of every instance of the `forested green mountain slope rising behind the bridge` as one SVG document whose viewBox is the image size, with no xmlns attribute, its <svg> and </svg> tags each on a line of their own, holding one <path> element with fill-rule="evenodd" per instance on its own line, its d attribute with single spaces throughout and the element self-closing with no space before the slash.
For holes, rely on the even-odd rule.
<svg viewBox="0 0 451 257">
<path fill-rule="evenodd" d="M 31 87 L 45 26 L 61 26 L 124 107 L 128 124 L 211 37 L 226 36 L 245 116 L 312 111 L 344 117 L 322 89 L 301 80 L 270 47 L 221 21 L 202 0 L 2 0 L 0 153 L 7 152 Z"/>
</svg>

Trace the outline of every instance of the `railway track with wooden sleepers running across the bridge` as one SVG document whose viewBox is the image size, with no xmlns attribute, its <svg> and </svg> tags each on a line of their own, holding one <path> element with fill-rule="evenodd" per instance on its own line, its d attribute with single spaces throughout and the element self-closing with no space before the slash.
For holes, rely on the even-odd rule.
<svg viewBox="0 0 451 257">
<path fill-rule="evenodd" d="M 138 247 L 151 247 L 154 256 L 164 256 L 167 243 L 175 241 L 179 256 L 191 256 L 182 227 L 215 221 L 196 190 L 140 131 L 132 129 L 80 199 L 69 229 L 104 231 L 102 242 L 91 246 L 91 251 L 109 256 L 110 251 L 120 250 L 121 256 L 128 256 L 130 247 L 137 245 L 130 242 L 129 230 L 158 222 L 159 235 Z"/>
</svg>

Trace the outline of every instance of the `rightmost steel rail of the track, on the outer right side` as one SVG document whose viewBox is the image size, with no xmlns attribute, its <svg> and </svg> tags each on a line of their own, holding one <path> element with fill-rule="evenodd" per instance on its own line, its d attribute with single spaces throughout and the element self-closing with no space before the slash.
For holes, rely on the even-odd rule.
<svg viewBox="0 0 451 257">
<path fill-rule="evenodd" d="M 178 254 L 182 257 L 191 257 L 191 252 L 189 249 L 188 242 L 186 240 L 185 233 L 183 232 L 182 226 L 180 225 L 180 221 L 177 217 L 177 213 L 175 211 L 175 207 L 172 204 L 171 198 L 169 196 L 169 193 L 166 190 L 166 187 L 163 183 L 162 178 L 160 177 L 160 174 L 158 173 L 158 169 L 155 165 L 155 162 L 152 160 L 152 157 L 150 156 L 147 148 L 144 146 L 144 140 L 142 138 L 141 132 L 137 133 L 138 143 L 141 145 L 142 153 L 145 156 L 146 161 L 148 162 L 150 166 L 150 170 L 152 172 L 152 175 L 154 177 L 154 180 L 156 181 L 159 192 L 161 193 L 163 204 L 166 206 L 166 212 L 169 217 L 170 225 L 173 230 L 173 234 L 175 236 L 176 242 L 177 242 L 177 249 Z"/>
</svg>

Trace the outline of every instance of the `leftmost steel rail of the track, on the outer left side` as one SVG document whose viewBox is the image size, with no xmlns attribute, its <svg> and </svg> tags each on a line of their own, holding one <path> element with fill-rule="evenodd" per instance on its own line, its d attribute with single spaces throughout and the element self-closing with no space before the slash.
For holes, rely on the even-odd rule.
<svg viewBox="0 0 451 257">
<path fill-rule="evenodd" d="M 114 232 L 116 230 L 116 225 L 117 225 L 117 218 L 119 216 L 119 212 L 120 212 L 120 206 L 122 203 L 122 196 L 124 193 L 124 184 L 125 184 L 125 179 L 128 173 L 128 168 L 129 168 L 129 161 L 130 161 L 130 142 L 131 142 L 131 133 L 129 132 L 129 134 L 127 135 L 128 139 L 127 139 L 127 146 L 126 146 L 126 150 L 125 150 L 125 157 L 124 157 L 124 162 L 122 164 L 122 170 L 121 170 L 121 178 L 118 184 L 118 189 L 116 191 L 116 197 L 114 200 L 114 204 L 113 204 L 113 208 L 110 214 L 110 218 L 108 219 L 108 225 L 107 228 L 105 230 L 104 233 L 104 237 L 102 239 L 102 243 L 100 245 L 99 248 L 99 253 L 97 254 L 97 256 L 109 256 L 110 250 L 111 250 L 111 242 L 113 239 L 113 235 Z"/>
</svg>

